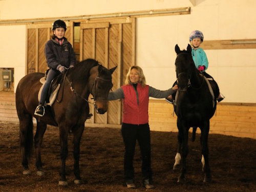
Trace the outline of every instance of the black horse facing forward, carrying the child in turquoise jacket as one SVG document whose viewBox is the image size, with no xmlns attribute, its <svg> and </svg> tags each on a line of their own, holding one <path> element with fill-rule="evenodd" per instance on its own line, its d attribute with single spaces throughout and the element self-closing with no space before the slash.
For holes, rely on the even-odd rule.
<svg viewBox="0 0 256 192">
<path fill-rule="evenodd" d="M 188 44 L 187 50 L 180 51 L 178 45 L 175 46 L 177 58 L 176 76 L 178 91 L 176 93 L 176 105 L 174 105 L 177 115 L 178 152 L 175 157 L 174 170 L 181 163 L 181 174 L 178 182 L 185 180 L 186 156 L 188 154 L 188 130 L 190 127 L 201 129 L 202 163 L 205 173 L 204 182 L 211 180 L 210 167 L 208 162 L 208 133 L 209 120 L 216 110 L 216 99 L 209 90 L 207 80 L 199 74 L 191 56 L 191 46 Z M 181 156 L 180 156 L 181 152 Z"/>
</svg>

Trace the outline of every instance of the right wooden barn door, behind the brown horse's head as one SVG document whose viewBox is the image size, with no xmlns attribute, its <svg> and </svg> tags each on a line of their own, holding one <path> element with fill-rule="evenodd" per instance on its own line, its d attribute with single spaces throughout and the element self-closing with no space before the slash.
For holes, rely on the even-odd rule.
<svg viewBox="0 0 256 192">
<path fill-rule="evenodd" d="M 87 58 L 96 59 L 106 68 L 117 65 L 112 75 L 112 89 L 123 85 L 130 66 L 135 65 L 135 18 L 81 22 L 80 60 Z M 121 101 L 110 101 L 108 112 L 100 115 L 91 106 L 93 117 L 87 123 L 120 125 L 121 109 Z"/>
</svg>

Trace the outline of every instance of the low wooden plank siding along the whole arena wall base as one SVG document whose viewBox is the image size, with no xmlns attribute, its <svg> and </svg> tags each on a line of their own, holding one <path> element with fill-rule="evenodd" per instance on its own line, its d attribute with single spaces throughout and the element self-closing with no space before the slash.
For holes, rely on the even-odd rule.
<svg viewBox="0 0 256 192">
<path fill-rule="evenodd" d="M 116 105 L 116 103 L 112 103 L 112 105 Z M 173 116 L 172 105 L 163 100 L 150 100 L 148 113 L 152 131 L 178 131 L 176 125 L 177 116 Z M 117 111 L 111 111 L 111 118 L 113 118 L 114 124 L 86 123 L 86 126 L 120 128 L 120 125 L 115 123 L 120 118 L 119 114 Z M 18 123 L 15 93 L 12 91 L 0 91 L 0 121 Z M 197 133 L 200 133 L 200 129 L 197 130 Z M 209 133 L 256 139 L 256 105 L 217 104 L 216 114 L 210 119 Z"/>
</svg>

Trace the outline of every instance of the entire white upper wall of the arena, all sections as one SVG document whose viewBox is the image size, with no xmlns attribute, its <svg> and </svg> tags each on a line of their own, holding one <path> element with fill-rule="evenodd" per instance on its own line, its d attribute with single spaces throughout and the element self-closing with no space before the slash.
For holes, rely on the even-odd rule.
<svg viewBox="0 0 256 192">
<path fill-rule="evenodd" d="M 137 19 L 136 62 L 143 68 L 148 84 L 159 89 L 167 89 L 176 79 L 175 44 L 185 49 L 191 31 L 201 30 L 205 40 L 256 39 L 256 26 L 253 25 L 256 20 L 254 14 L 256 1 L 194 0 L 191 2 L 189 0 L 3 0 L 0 1 L 0 20 L 58 18 L 191 7 L 191 14 L 188 15 Z M 57 5 L 68 9 L 56 9 Z M 12 31 L 16 31 L 20 38 L 13 38 Z M 0 67 L 3 67 L 2 63 L 6 64 L 9 61 L 6 56 L 10 57 L 15 53 L 15 58 L 12 59 L 19 62 L 14 62 L 15 64 L 11 64 L 10 67 L 18 65 L 21 71 L 19 77 L 25 74 L 25 35 L 25 26 L 0 25 L 0 41 L 2 47 L 7 47 L 3 52 L 1 49 Z M 16 47 L 12 46 L 14 44 Z M 18 52 L 13 52 L 13 49 Z M 256 103 L 254 97 L 256 92 L 253 89 L 256 82 L 255 49 L 205 51 L 209 60 L 207 72 L 218 82 L 221 92 L 226 96 L 224 101 Z M 15 78 L 15 81 L 17 79 Z"/>
</svg>

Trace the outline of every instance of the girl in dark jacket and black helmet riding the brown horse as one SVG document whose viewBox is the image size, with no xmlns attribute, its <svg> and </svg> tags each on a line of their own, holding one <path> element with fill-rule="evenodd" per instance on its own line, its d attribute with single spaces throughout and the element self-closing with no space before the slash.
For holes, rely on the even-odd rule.
<svg viewBox="0 0 256 192">
<path fill-rule="evenodd" d="M 71 43 L 67 40 L 65 32 L 67 30 L 66 23 L 63 20 L 56 20 L 53 23 L 53 36 L 45 46 L 45 55 L 47 65 L 50 68 L 46 83 L 41 91 L 39 104 L 35 109 L 35 115 L 44 116 L 44 103 L 48 94 L 51 81 L 59 74 L 64 74 L 69 68 L 73 68 L 76 64 L 76 55 Z"/>
</svg>

